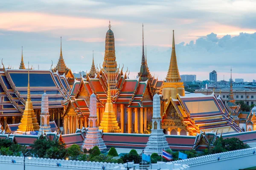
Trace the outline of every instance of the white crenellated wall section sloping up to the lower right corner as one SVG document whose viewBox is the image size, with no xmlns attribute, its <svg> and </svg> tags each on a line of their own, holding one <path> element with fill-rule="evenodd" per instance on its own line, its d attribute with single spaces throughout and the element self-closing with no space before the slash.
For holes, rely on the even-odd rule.
<svg viewBox="0 0 256 170">
<path fill-rule="evenodd" d="M 218 160 L 219 159 L 219 160 Z M 256 166 L 256 147 L 174 161 L 189 170 L 239 170 Z"/>
</svg>

